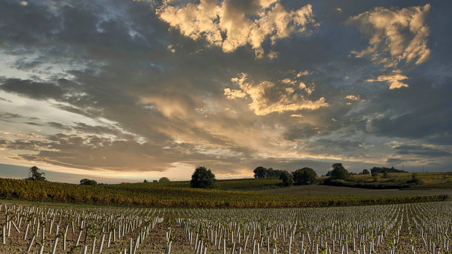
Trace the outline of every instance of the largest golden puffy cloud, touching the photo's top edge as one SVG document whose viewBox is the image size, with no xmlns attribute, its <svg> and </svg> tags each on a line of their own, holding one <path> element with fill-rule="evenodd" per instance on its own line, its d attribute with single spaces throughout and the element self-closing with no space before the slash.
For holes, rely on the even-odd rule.
<svg viewBox="0 0 452 254">
<path fill-rule="evenodd" d="M 262 43 L 266 39 L 274 44 L 292 33 L 309 33 L 309 24 L 318 25 L 310 4 L 297 10 L 286 10 L 278 0 L 251 3 L 201 0 L 185 6 L 163 1 L 156 14 L 184 36 L 193 40 L 204 38 L 210 46 L 219 46 L 226 53 L 251 45 L 256 58 L 264 56 Z M 273 59 L 277 55 L 271 51 L 268 57 Z"/>
</svg>

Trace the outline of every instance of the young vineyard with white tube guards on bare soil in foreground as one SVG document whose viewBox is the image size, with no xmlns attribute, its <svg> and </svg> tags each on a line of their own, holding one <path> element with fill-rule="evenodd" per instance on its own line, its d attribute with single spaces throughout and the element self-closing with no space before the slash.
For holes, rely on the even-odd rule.
<svg viewBox="0 0 452 254">
<path fill-rule="evenodd" d="M 0 204 L 0 213 L 0 253 L 8 254 L 446 254 L 452 245 L 449 201 L 251 209 Z"/>
</svg>

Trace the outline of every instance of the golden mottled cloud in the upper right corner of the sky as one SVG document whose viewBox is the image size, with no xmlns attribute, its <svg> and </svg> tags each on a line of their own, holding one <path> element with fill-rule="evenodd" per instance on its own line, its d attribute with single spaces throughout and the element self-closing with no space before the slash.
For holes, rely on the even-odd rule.
<svg viewBox="0 0 452 254">
<path fill-rule="evenodd" d="M 430 57 L 426 19 L 430 4 L 402 9 L 376 7 L 347 20 L 369 36 L 369 46 L 352 51 L 357 58 L 369 56 L 373 62 L 396 67 L 402 60 L 419 65 Z"/>
</svg>

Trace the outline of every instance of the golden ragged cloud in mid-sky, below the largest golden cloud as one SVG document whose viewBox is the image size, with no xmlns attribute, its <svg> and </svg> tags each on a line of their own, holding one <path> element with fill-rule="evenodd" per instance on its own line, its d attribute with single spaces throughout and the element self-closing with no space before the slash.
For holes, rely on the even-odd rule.
<svg viewBox="0 0 452 254">
<path fill-rule="evenodd" d="M 240 90 L 224 89 L 224 94 L 229 99 L 249 97 L 251 101 L 248 104 L 249 109 L 253 110 L 256 115 L 267 115 L 272 112 L 283 113 L 285 111 L 295 111 L 301 109 L 314 110 L 320 107 L 328 107 L 324 97 L 313 101 L 306 99 L 304 95 L 296 93 L 294 89 L 287 90 L 287 87 L 275 85 L 269 81 L 261 81 L 258 83 L 249 82 L 248 76 L 244 73 L 238 75 L 237 78 L 231 79 L 232 82 L 240 86 Z M 284 84 L 284 82 L 283 82 Z M 291 85 L 291 84 L 289 84 Z M 232 93 L 233 91 L 233 93 Z M 235 96 L 233 94 L 238 94 Z M 310 94 L 310 92 L 308 92 Z"/>
</svg>

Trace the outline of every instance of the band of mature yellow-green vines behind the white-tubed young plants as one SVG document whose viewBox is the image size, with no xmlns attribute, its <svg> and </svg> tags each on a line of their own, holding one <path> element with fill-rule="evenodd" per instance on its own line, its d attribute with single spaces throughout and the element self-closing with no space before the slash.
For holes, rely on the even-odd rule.
<svg viewBox="0 0 452 254">
<path fill-rule="evenodd" d="M 447 195 L 283 195 L 169 186 L 155 183 L 92 186 L 0 178 L 0 197 L 144 207 L 318 207 L 413 203 L 447 199 Z"/>
</svg>

